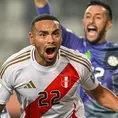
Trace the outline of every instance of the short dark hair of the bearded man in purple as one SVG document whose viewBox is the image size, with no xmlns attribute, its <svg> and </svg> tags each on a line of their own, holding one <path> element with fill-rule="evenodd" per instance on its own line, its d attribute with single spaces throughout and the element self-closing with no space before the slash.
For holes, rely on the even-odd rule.
<svg viewBox="0 0 118 118">
<path fill-rule="evenodd" d="M 100 6 L 104 7 L 108 11 L 108 13 L 109 13 L 110 20 L 112 20 L 112 17 L 113 17 L 112 16 L 112 10 L 111 10 L 111 7 L 108 4 L 106 4 L 105 2 L 103 2 L 101 0 L 91 0 L 88 3 L 86 8 L 88 8 L 91 5 L 100 5 Z"/>
</svg>

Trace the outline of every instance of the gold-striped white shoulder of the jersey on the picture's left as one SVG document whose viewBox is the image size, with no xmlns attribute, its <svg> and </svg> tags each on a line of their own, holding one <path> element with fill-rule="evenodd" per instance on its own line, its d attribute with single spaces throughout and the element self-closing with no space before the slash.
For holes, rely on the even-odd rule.
<svg viewBox="0 0 118 118">
<path fill-rule="evenodd" d="M 28 46 L 19 52 L 11 55 L 1 66 L 0 74 L 3 75 L 5 71 L 12 72 L 16 67 L 25 66 L 23 62 L 30 59 L 30 52 L 33 46 Z"/>
</svg>

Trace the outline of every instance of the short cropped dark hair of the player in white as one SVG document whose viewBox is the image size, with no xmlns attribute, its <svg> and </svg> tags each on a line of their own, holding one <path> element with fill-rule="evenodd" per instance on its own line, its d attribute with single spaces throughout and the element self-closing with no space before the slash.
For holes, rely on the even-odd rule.
<svg viewBox="0 0 118 118">
<path fill-rule="evenodd" d="M 35 23 L 38 21 L 41 21 L 41 20 L 55 20 L 55 21 L 59 22 L 59 25 L 60 25 L 60 21 L 55 16 L 52 16 L 49 14 L 42 14 L 42 15 L 38 15 L 38 16 L 34 17 L 34 19 L 31 22 L 31 30 L 32 30 L 33 26 L 35 25 Z"/>
</svg>

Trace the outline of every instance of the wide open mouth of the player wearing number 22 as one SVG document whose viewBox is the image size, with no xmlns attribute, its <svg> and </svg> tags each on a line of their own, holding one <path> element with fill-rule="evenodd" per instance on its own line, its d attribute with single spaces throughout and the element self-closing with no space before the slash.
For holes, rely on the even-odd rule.
<svg viewBox="0 0 118 118">
<path fill-rule="evenodd" d="M 45 52 L 46 52 L 46 58 L 52 59 L 56 55 L 56 47 L 54 46 L 47 47 Z"/>
</svg>

